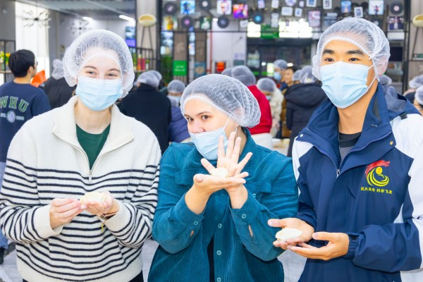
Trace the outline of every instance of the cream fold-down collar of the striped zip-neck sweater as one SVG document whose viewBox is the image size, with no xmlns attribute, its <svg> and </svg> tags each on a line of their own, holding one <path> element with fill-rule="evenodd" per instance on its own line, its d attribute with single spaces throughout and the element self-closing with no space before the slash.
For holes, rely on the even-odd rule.
<svg viewBox="0 0 423 282">
<path fill-rule="evenodd" d="M 78 103 L 78 100 L 78 96 L 72 97 L 67 104 L 57 109 L 52 131 L 61 140 L 68 142 L 83 152 L 76 135 L 75 104 Z M 109 136 L 100 154 L 111 152 L 131 142 L 133 139 L 133 130 L 130 123 L 128 123 L 128 119 L 121 114 L 116 105 L 113 105 Z"/>
</svg>

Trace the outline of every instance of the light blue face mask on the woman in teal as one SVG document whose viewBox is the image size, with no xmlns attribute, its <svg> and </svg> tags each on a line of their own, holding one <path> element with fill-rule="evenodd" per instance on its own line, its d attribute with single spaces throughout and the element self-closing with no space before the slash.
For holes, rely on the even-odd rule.
<svg viewBox="0 0 423 282">
<path fill-rule="evenodd" d="M 204 133 L 190 133 L 192 142 L 194 142 L 195 147 L 204 159 L 209 161 L 215 161 L 217 159 L 217 148 L 219 147 L 219 137 L 221 137 L 221 135 L 223 135 L 223 146 L 226 152 L 228 138 L 226 137 L 225 128 L 226 125 L 228 125 L 229 119 L 231 119 L 231 117 L 228 118 L 224 126 L 216 130 L 205 131 Z"/>
</svg>

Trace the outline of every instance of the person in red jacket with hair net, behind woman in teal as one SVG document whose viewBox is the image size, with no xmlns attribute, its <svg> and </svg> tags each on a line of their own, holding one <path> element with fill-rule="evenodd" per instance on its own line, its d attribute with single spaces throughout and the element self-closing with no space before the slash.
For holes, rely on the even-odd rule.
<svg viewBox="0 0 423 282">
<path fill-rule="evenodd" d="M 255 85 L 256 78 L 250 68 L 247 66 L 236 66 L 232 69 L 232 77 L 243 82 L 245 86 L 252 92 L 257 102 L 259 102 L 259 108 L 262 112 L 260 117 L 260 123 L 257 124 L 254 128 L 250 128 L 250 133 L 252 138 L 258 145 L 263 147 L 273 149 L 271 142 L 271 110 L 269 101 L 266 99 L 266 96 L 257 88 Z"/>
</svg>

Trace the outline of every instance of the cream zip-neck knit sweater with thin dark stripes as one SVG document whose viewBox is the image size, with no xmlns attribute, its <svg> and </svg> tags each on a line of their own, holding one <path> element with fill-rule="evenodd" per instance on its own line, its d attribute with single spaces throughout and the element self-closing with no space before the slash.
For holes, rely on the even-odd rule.
<svg viewBox="0 0 423 282">
<path fill-rule="evenodd" d="M 78 142 L 73 97 L 23 125 L 8 150 L 0 226 L 17 243 L 27 281 L 130 281 L 142 271 L 142 243 L 157 206 L 160 148 L 147 126 L 111 113 L 109 137 L 90 170 Z M 82 212 L 51 229 L 50 202 L 107 190 L 120 204 L 111 219 Z"/>
</svg>

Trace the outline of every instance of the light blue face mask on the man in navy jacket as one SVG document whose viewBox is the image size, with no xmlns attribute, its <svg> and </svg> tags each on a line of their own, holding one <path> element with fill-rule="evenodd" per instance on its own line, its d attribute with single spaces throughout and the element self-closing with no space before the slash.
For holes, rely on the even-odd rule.
<svg viewBox="0 0 423 282">
<path fill-rule="evenodd" d="M 367 86 L 367 74 L 372 67 L 341 61 L 322 66 L 321 88 L 337 108 L 345 109 L 363 97 L 372 86 L 376 76 Z"/>
</svg>

